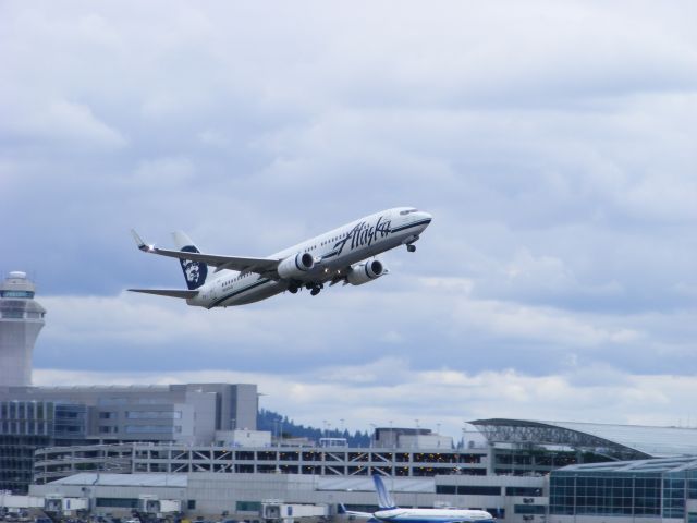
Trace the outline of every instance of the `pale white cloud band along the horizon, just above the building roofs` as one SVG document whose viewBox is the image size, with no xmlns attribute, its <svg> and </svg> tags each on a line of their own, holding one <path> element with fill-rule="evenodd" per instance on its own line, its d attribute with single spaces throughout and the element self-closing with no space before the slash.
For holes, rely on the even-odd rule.
<svg viewBox="0 0 697 523">
<path fill-rule="evenodd" d="M 603 382 L 577 381 L 574 374 L 528 376 L 510 369 L 464 373 L 442 368 L 419 370 L 404 361 L 376 361 L 384 379 L 337 379 L 352 376 L 355 368 L 334 366 L 305 374 L 269 375 L 234 370 L 187 370 L 172 373 L 109 373 L 35 370 L 35 385 L 125 385 L 180 382 L 255 382 L 260 406 L 282 412 L 296 423 L 332 427 L 340 418 L 350 430 L 378 426 L 436 429 L 462 436 L 464 423 L 478 418 L 594 422 L 657 426 L 688 425 L 697 413 L 685 409 L 682 399 L 697 393 L 692 377 L 628 375 L 617 373 Z M 391 380 L 394 368 L 399 380 Z"/>
</svg>

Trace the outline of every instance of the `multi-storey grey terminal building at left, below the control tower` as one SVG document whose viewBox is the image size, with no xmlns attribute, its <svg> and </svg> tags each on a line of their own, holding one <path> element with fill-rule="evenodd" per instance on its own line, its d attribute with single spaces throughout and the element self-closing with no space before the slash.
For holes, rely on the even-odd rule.
<svg viewBox="0 0 697 523">
<path fill-rule="evenodd" d="M 0 387 L 0 490 L 27 490 L 41 448 L 211 445 L 236 427 L 256 429 L 257 406 L 248 384 Z"/>
</svg>

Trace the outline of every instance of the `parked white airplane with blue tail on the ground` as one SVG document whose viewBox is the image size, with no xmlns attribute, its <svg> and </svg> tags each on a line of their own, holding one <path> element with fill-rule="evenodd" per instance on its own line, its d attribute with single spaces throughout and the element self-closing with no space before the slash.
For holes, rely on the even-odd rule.
<svg viewBox="0 0 697 523">
<path fill-rule="evenodd" d="M 392 500 L 379 474 L 372 475 L 378 494 L 377 512 L 355 512 L 339 506 L 339 513 L 348 519 L 362 519 L 368 522 L 388 523 L 494 523 L 493 516 L 485 510 L 474 509 L 401 509 Z"/>
</svg>

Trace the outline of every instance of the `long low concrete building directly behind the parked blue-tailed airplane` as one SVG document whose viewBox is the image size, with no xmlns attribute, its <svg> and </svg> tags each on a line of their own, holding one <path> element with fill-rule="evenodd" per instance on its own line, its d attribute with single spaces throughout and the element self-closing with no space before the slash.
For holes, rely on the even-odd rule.
<svg viewBox="0 0 697 523">
<path fill-rule="evenodd" d="M 386 477 L 386 486 L 400 507 L 469 507 L 489 511 L 500 520 L 529 521 L 530 506 L 545 508 L 543 477 Z M 366 476 L 293 474 L 76 474 L 47 485 L 33 485 L 33 496 L 60 492 L 87 496 L 97 513 L 127 514 L 139 496 L 180 500 L 189 519 L 217 520 L 223 513 L 235 520 L 258 520 L 265 500 L 323 504 L 328 514 L 343 503 L 348 510 L 378 510 L 372 479 Z M 529 494 L 529 496 L 526 496 Z M 533 502 L 529 502 L 529 501 Z M 521 510 L 525 511 L 522 513 Z M 538 521 L 543 521 L 539 519 Z"/>
</svg>

